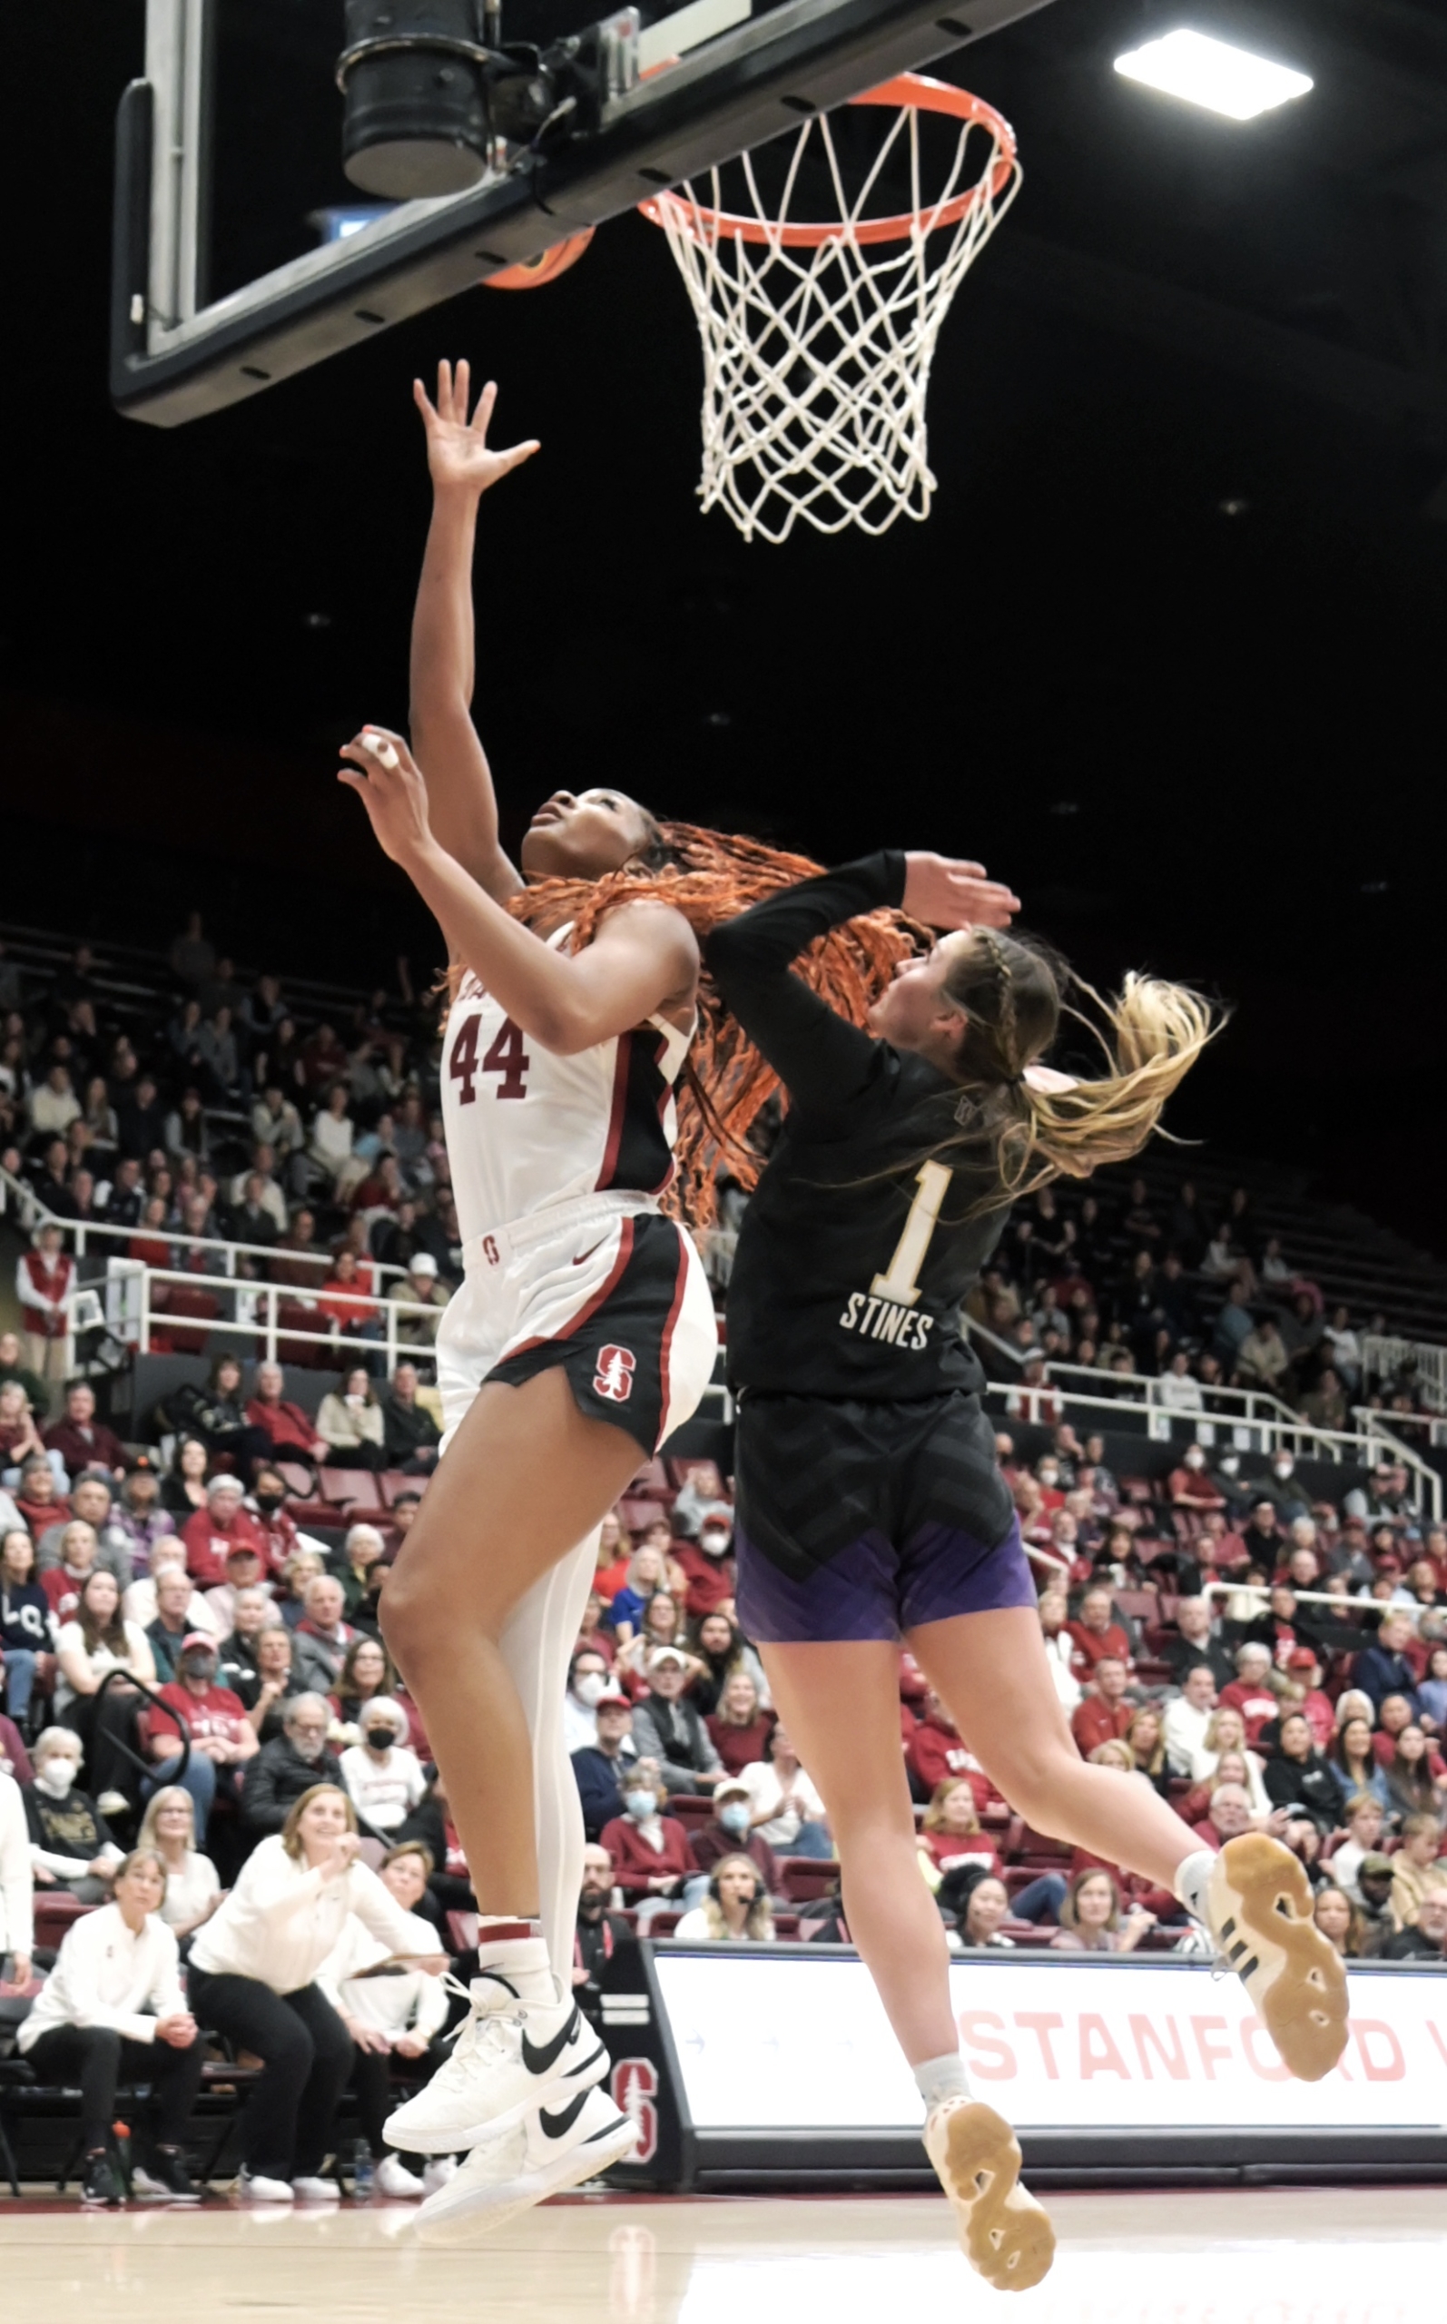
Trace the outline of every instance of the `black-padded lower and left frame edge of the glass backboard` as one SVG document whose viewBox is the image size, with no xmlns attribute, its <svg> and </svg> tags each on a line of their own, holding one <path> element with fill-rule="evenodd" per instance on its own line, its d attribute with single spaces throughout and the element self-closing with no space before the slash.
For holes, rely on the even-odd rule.
<svg viewBox="0 0 1447 2324">
<path fill-rule="evenodd" d="M 116 123 L 111 397 L 160 428 L 223 411 L 1048 5 L 785 0 L 606 100 L 595 135 L 402 202 L 207 304 L 214 0 L 146 0 L 146 77 Z"/>
</svg>

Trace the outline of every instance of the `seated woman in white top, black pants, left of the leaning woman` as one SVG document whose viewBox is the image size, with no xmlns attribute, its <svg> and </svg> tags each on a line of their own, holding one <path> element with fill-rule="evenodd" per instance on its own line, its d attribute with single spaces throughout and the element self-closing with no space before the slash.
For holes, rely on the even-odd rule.
<svg viewBox="0 0 1447 2324">
<path fill-rule="evenodd" d="M 118 1866 L 114 1903 L 72 1922 L 56 1966 L 21 2020 L 16 2045 L 37 2080 L 79 2085 L 81 2203 L 118 2203 L 109 2129 L 121 2082 L 149 2089 L 137 2119 L 146 2164 L 137 2194 L 197 2203 L 183 2138 L 202 2085 L 204 2045 L 186 2006 L 177 1938 L 160 1920 L 165 1868 L 132 1850 Z"/>
</svg>

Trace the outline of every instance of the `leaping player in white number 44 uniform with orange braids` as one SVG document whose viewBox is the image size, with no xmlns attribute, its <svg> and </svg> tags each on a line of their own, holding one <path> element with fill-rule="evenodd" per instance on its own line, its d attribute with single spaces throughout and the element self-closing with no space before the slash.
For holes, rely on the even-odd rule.
<svg viewBox="0 0 1447 2324">
<path fill-rule="evenodd" d="M 687 1064 L 694 930 L 813 867 L 660 827 L 611 790 L 555 792 L 513 869 L 471 725 L 481 493 L 537 446 L 488 449 L 492 388 L 420 383 L 434 486 L 411 655 L 416 760 L 365 727 L 362 797 L 448 941 L 444 1113 L 467 1281 L 439 1341 L 444 1459 L 386 1592 L 388 1645 L 427 1722 L 483 1931 L 453 2059 L 393 2117 L 413 2152 L 474 2147 L 423 2217 L 497 2219 L 632 2145 L 595 2085 L 606 2052 L 571 2001 L 583 1822 L 560 1706 L 602 1518 L 697 1406 L 718 1329 L 692 1239 L 660 1208 L 676 1085 L 685 1185 L 711 1197 L 718 1118 Z M 425 772 L 423 772 L 425 769 Z M 897 930 L 845 934 L 818 974 L 864 995 Z M 701 1050 L 741 1132 L 773 1085 L 713 1006 Z M 541 1931 L 541 1934 L 539 1934 Z"/>
</svg>

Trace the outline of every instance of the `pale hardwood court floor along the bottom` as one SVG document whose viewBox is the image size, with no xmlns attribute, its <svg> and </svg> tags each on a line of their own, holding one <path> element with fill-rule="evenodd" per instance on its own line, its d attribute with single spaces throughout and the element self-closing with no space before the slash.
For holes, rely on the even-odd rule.
<svg viewBox="0 0 1447 2324">
<path fill-rule="evenodd" d="M 469 2250 L 406 2205 L 86 2212 L 0 2199 L 7 2324 L 1431 2324 L 1447 2194 L 1054 2196 L 1059 2257 L 1024 2294 L 964 2264 L 941 2201 L 553 2203 Z"/>
</svg>

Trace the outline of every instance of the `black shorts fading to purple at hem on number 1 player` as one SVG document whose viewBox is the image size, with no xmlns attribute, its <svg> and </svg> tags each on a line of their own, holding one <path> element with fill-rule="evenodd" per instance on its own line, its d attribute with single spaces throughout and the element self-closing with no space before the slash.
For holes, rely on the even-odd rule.
<svg viewBox="0 0 1447 2324">
<path fill-rule="evenodd" d="M 899 1641 L 1034 1606 L 980 1399 L 746 1394 L 734 1446 L 739 1622 L 764 1643 Z"/>
</svg>

